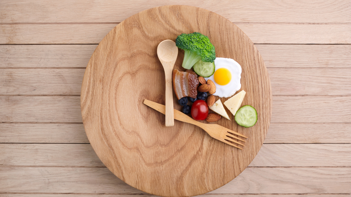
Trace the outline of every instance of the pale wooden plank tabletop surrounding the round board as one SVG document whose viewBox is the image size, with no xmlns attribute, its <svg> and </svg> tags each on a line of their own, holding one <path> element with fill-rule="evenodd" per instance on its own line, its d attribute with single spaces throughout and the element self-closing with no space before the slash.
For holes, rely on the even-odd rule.
<svg viewBox="0 0 351 197">
<path fill-rule="evenodd" d="M 271 125 L 236 179 L 203 196 L 351 194 L 351 1 L 185 1 L 231 20 L 269 71 Z M 80 87 L 119 22 L 171 1 L 0 1 L 0 196 L 150 196 L 115 177 L 82 125 Z M 101 195 L 102 194 L 102 195 Z"/>
</svg>

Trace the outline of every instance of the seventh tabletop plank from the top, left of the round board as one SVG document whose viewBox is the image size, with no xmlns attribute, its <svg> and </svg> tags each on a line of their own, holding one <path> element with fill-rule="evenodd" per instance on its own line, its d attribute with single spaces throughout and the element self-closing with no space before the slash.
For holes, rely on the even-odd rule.
<svg viewBox="0 0 351 197">
<path fill-rule="evenodd" d="M 0 144 L 0 155 L 1 167 L 105 167 L 90 144 Z"/>
</svg>

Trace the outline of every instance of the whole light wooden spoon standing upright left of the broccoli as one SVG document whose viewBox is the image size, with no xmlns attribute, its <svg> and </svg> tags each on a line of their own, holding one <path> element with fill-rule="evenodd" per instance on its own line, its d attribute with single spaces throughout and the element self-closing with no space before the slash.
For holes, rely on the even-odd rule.
<svg viewBox="0 0 351 197">
<path fill-rule="evenodd" d="M 157 46 L 157 56 L 165 70 L 166 78 L 166 127 L 174 126 L 172 71 L 178 56 L 178 47 L 172 40 L 164 40 Z"/>
</svg>

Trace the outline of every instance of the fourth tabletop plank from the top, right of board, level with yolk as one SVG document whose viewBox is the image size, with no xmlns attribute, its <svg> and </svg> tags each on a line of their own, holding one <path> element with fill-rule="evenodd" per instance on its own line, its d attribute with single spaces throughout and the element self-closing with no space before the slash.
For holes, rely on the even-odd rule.
<svg viewBox="0 0 351 197">
<path fill-rule="evenodd" d="M 268 68 L 273 95 L 351 95 L 349 68 Z"/>
</svg>

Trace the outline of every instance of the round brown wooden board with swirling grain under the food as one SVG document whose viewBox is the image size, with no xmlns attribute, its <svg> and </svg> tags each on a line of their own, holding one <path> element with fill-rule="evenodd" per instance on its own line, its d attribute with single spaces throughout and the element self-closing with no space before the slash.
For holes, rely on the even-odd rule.
<svg viewBox="0 0 351 197">
<path fill-rule="evenodd" d="M 207 35 L 217 57 L 232 58 L 243 69 L 243 105 L 256 108 L 258 121 L 250 128 L 225 118 L 216 123 L 248 136 L 244 150 L 192 124 L 165 127 L 165 115 L 143 104 L 144 99 L 165 104 L 157 45 L 193 32 Z M 175 69 L 184 70 L 183 56 L 179 50 Z M 175 94 L 173 99 L 180 110 Z M 256 156 L 271 120 L 271 84 L 258 50 L 232 22 L 197 7 L 162 6 L 124 20 L 100 42 L 84 74 L 81 111 L 93 149 L 113 174 L 154 195 L 194 196 L 228 183 Z"/>
</svg>

